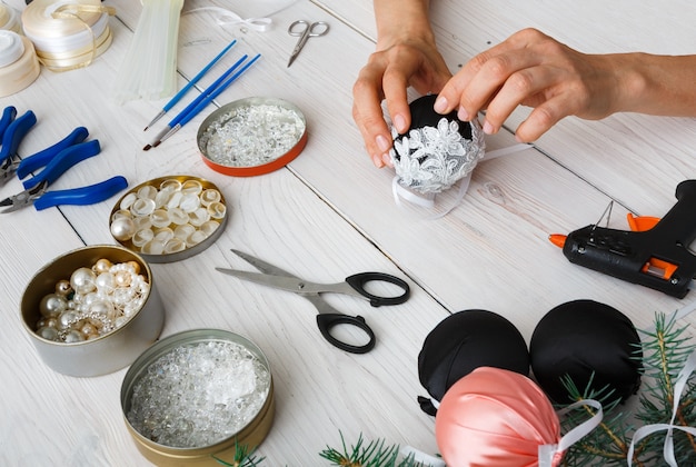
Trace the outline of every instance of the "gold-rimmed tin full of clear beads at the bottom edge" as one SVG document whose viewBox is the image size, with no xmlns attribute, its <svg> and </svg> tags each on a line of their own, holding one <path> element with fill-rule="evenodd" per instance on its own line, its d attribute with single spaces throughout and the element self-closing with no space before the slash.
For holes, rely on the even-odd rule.
<svg viewBox="0 0 696 467">
<path fill-rule="evenodd" d="M 222 329 L 171 335 L 128 369 L 121 408 L 138 450 L 158 466 L 219 466 L 270 431 L 274 382 L 251 340 Z"/>
</svg>

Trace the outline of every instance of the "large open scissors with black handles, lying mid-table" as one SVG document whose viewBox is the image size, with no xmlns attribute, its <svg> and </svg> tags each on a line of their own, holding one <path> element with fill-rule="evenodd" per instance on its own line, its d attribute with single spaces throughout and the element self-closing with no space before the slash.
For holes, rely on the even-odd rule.
<svg viewBox="0 0 696 467">
<path fill-rule="evenodd" d="M 332 346 L 351 354 L 366 354 L 370 351 L 375 347 L 376 342 L 375 332 L 372 332 L 372 329 L 367 325 L 365 318 L 361 316 L 344 315 L 331 307 L 321 297 L 321 294 L 332 292 L 359 297 L 369 300 L 372 307 L 379 307 L 381 305 L 399 305 L 405 302 L 410 295 L 408 284 L 398 277 L 384 272 L 359 272 L 347 277 L 342 282 L 316 284 L 300 279 L 299 277 L 251 255 L 235 249 L 231 251 L 260 270 L 261 274 L 225 268 L 216 268 L 217 270 L 243 280 L 262 284 L 280 290 L 291 291 L 305 297 L 311 301 L 319 311 L 319 315 L 317 315 L 317 326 L 319 327 L 324 338 Z M 392 284 L 401 289 L 401 295 L 384 297 L 370 294 L 366 289 L 366 285 L 372 281 Z M 331 334 L 331 329 L 338 325 L 349 325 L 360 329 L 365 336 L 369 338 L 369 341 L 365 345 L 358 346 L 339 340 Z"/>
</svg>

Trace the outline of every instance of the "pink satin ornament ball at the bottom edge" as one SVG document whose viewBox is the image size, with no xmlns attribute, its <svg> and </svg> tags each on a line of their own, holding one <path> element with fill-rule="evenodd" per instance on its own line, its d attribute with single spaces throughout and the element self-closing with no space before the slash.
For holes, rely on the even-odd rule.
<svg viewBox="0 0 696 467">
<path fill-rule="evenodd" d="M 531 379 L 479 367 L 443 397 L 435 436 L 448 467 L 531 467 L 539 463 L 539 446 L 560 439 L 560 423 Z M 553 465 L 561 458 L 558 453 Z"/>
</svg>

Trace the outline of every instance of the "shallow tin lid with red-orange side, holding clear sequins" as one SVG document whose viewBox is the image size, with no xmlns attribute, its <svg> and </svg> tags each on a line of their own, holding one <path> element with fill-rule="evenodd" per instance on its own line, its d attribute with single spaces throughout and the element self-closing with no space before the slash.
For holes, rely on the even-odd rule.
<svg viewBox="0 0 696 467">
<path fill-rule="evenodd" d="M 251 97 L 220 107 L 198 129 L 198 149 L 211 169 L 237 177 L 278 170 L 307 145 L 307 121 L 282 99 Z"/>
</svg>

